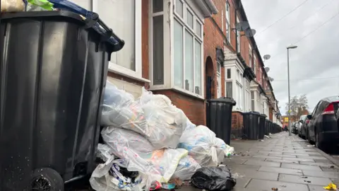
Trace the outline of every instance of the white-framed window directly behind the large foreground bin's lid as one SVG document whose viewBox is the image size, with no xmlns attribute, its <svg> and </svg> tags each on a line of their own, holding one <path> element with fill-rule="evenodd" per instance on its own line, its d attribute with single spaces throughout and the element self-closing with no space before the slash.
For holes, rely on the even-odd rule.
<svg viewBox="0 0 339 191">
<path fill-rule="evenodd" d="M 141 78 L 141 1 L 93 0 L 93 11 L 125 42 L 112 53 L 109 70 Z"/>
</svg>

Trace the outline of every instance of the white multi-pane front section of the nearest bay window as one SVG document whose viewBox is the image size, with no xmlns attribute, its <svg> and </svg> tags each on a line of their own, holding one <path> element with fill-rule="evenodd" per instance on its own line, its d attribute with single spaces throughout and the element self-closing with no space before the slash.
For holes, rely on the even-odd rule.
<svg viewBox="0 0 339 191">
<path fill-rule="evenodd" d="M 174 7 L 174 86 L 201 95 L 202 23 L 184 1 Z"/>
</svg>

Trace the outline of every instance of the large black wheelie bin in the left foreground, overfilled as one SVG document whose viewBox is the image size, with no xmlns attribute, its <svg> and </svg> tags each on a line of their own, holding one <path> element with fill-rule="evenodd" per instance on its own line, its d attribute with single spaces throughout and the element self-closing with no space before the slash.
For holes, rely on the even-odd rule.
<svg viewBox="0 0 339 191">
<path fill-rule="evenodd" d="M 1 15 L 0 46 L 0 190 L 62 191 L 95 168 L 108 61 L 124 41 L 97 15 L 33 11 Z"/>
</svg>

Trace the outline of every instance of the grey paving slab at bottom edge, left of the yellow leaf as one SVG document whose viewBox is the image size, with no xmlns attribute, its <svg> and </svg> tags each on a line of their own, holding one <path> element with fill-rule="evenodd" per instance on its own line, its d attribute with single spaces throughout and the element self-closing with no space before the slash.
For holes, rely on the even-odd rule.
<svg viewBox="0 0 339 191">
<path fill-rule="evenodd" d="M 278 190 L 288 190 L 288 191 L 309 191 L 309 187 L 303 184 L 295 184 L 295 183 L 283 183 L 272 180 L 258 180 L 252 179 L 249 182 L 249 185 L 246 186 L 251 190 L 256 191 L 271 191 L 272 188 L 278 188 Z"/>
</svg>

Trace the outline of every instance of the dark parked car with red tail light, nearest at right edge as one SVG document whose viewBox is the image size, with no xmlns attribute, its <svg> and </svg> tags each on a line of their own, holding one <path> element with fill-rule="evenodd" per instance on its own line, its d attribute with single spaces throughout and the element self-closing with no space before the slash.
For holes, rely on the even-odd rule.
<svg viewBox="0 0 339 191">
<path fill-rule="evenodd" d="M 339 144 L 339 132 L 335 113 L 339 108 L 339 96 L 323 98 L 314 108 L 308 127 L 308 137 L 311 144 L 316 144 L 319 149 L 334 149 Z"/>
</svg>

